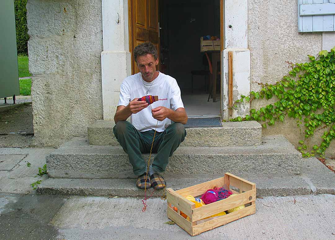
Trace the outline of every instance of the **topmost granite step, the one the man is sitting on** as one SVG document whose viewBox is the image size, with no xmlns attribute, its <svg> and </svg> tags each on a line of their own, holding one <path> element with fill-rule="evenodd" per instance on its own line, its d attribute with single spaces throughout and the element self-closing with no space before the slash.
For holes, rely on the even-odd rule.
<svg viewBox="0 0 335 240">
<path fill-rule="evenodd" d="M 119 146 L 113 127 L 114 121 L 98 120 L 88 126 L 91 145 Z M 187 128 L 182 146 L 256 146 L 261 144 L 262 126 L 256 121 L 223 122 L 222 127 Z"/>
</svg>

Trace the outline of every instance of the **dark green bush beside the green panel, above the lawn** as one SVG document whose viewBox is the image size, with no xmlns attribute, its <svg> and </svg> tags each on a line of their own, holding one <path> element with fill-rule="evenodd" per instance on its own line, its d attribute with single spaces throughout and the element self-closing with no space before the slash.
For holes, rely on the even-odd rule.
<svg viewBox="0 0 335 240">
<path fill-rule="evenodd" d="M 28 53 L 27 0 L 14 1 L 17 54 Z"/>
</svg>

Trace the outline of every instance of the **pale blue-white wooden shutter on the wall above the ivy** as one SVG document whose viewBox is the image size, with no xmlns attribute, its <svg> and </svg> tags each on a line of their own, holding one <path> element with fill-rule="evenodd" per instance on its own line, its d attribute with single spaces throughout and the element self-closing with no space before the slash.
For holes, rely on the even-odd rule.
<svg viewBox="0 0 335 240">
<path fill-rule="evenodd" d="M 333 32 L 335 0 L 298 0 L 299 32 Z"/>
</svg>

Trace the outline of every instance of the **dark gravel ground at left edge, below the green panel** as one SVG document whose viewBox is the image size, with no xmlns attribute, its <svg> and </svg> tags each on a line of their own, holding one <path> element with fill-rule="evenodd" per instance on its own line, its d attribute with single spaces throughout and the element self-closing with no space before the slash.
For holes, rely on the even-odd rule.
<svg viewBox="0 0 335 240">
<path fill-rule="evenodd" d="M 32 107 L 23 105 L 0 114 L 0 147 L 29 147 L 34 137 Z"/>
</svg>

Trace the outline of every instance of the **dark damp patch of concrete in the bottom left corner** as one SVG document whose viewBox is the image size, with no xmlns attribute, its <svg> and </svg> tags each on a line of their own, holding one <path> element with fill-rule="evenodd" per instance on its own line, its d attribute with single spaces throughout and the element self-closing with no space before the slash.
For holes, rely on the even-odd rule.
<svg viewBox="0 0 335 240">
<path fill-rule="evenodd" d="M 48 223 L 64 202 L 60 196 L 0 193 L 0 238 L 62 239 Z"/>
</svg>

